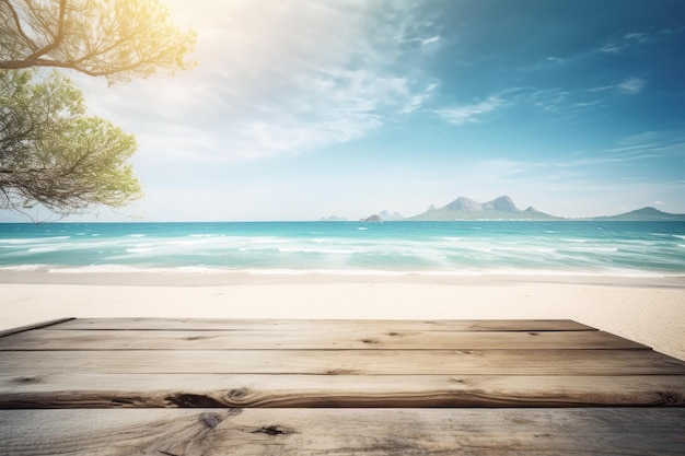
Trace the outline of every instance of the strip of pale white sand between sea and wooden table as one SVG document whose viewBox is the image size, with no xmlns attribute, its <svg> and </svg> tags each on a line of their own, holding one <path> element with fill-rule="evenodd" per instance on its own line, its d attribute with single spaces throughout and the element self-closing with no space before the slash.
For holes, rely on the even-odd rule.
<svg viewBox="0 0 685 456">
<path fill-rule="evenodd" d="M 568 318 L 685 360 L 684 278 L 0 273 L 0 329 L 61 317 Z"/>
</svg>

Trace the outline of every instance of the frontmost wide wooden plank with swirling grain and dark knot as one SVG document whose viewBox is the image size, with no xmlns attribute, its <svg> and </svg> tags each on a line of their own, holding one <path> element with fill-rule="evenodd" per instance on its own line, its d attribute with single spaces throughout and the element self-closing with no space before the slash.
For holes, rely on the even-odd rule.
<svg viewBox="0 0 685 456">
<path fill-rule="evenodd" d="M 0 455 L 685 453 L 685 409 L 0 411 Z"/>
</svg>

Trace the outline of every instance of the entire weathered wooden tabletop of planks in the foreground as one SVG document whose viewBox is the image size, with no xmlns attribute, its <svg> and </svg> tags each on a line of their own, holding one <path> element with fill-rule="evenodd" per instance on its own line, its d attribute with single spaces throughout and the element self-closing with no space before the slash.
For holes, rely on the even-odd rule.
<svg viewBox="0 0 685 456">
<path fill-rule="evenodd" d="M 8 455 L 683 454 L 683 406 L 685 362 L 570 320 L 85 318 L 0 332 Z"/>
</svg>

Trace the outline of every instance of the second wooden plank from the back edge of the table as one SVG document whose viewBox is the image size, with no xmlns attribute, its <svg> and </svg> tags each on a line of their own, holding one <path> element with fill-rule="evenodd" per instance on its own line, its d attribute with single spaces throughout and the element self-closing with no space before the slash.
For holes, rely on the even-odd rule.
<svg viewBox="0 0 685 456">
<path fill-rule="evenodd" d="M 391 331 L 327 329 L 169 331 L 33 330 L 0 339 L 2 350 L 484 350 L 649 349 L 603 331 Z"/>
</svg>

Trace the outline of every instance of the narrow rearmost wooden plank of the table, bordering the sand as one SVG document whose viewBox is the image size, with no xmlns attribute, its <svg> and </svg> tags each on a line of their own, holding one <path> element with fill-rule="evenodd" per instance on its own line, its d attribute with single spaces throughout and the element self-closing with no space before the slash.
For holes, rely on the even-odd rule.
<svg viewBox="0 0 685 456">
<path fill-rule="evenodd" d="M 244 330 L 282 329 L 299 331 L 311 328 L 336 330 L 355 327 L 390 331 L 588 331 L 594 328 L 559 319 L 222 319 L 222 318 L 78 318 L 54 329 L 143 329 L 143 330 Z"/>
</svg>

